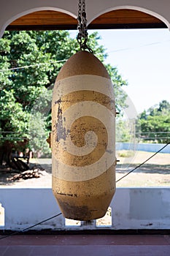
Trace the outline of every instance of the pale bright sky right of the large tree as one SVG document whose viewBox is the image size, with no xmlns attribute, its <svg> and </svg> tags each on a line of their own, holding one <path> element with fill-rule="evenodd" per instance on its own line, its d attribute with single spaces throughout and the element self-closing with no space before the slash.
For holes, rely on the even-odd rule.
<svg viewBox="0 0 170 256">
<path fill-rule="evenodd" d="M 89 31 L 89 34 L 93 31 Z M 75 31 L 72 31 L 74 35 Z M 168 29 L 98 30 L 100 44 L 128 86 L 123 89 L 137 113 L 161 100 L 170 102 L 170 31 Z"/>
</svg>

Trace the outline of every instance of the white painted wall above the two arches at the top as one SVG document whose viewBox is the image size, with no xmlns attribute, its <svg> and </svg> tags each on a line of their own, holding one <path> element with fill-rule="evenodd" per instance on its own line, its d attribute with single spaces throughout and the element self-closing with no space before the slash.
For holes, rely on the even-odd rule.
<svg viewBox="0 0 170 256">
<path fill-rule="evenodd" d="M 146 12 L 161 20 L 170 28 L 170 1 L 168 0 L 86 0 L 88 23 L 105 12 L 117 9 L 133 9 Z M 5 28 L 20 16 L 38 10 L 56 10 L 77 18 L 77 0 L 6 0 L 0 2 L 0 37 Z"/>
</svg>

